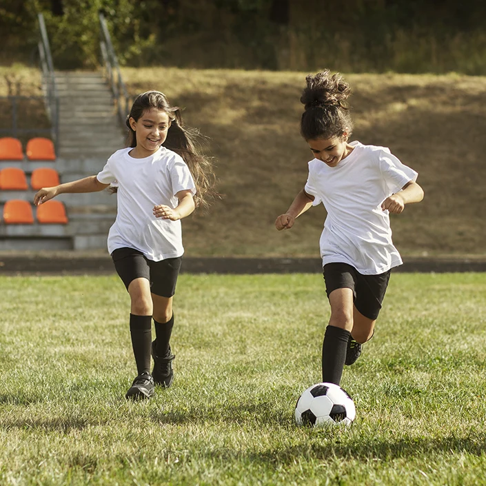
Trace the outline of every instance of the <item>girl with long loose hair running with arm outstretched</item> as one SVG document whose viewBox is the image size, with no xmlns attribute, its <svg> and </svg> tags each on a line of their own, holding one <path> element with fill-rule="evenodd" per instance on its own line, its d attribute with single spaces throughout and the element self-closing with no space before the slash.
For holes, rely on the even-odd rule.
<svg viewBox="0 0 486 486">
<path fill-rule="evenodd" d="M 117 192 L 117 219 L 108 251 L 130 294 L 130 336 L 137 376 L 126 398 L 150 398 L 174 379 L 172 298 L 184 252 L 181 219 L 205 209 L 214 191 L 210 159 L 196 150 L 178 107 L 159 91 L 136 97 L 127 117 L 128 147 L 114 152 L 96 176 L 42 188 L 34 204 L 68 192 Z M 156 339 L 152 342 L 152 318 Z M 154 369 L 150 372 L 150 356 Z"/>
</svg>

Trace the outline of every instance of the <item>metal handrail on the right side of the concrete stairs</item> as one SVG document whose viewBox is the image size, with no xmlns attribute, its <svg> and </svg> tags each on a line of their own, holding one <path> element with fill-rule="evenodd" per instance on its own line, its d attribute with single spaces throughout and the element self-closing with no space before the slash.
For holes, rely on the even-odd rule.
<svg viewBox="0 0 486 486">
<path fill-rule="evenodd" d="M 101 57 L 103 58 L 103 68 L 105 69 L 105 78 L 112 90 L 112 99 L 117 105 L 120 121 L 124 125 L 125 119 L 130 112 L 130 97 L 128 96 L 125 83 L 123 83 L 117 54 L 114 53 L 108 25 L 102 13 L 99 14 L 99 23 L 101 27 L 100 49 Z"/>
</svg>

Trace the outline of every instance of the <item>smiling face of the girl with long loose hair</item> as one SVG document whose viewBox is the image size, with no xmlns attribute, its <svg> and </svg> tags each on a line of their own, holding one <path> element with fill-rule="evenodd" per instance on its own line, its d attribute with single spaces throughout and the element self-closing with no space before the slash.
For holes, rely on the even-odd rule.
<svg viewBox="0 0 486 486">
<path fill-rule="evenodd" d="M 170 119 L 163 110 L 145 110 L 138 120 L 130 118 L 130 127 L 135 132 L 136 147 L 130 155 L 143 159 L 154 154 L 165 142 L 170 128 Z"/>
</svg>

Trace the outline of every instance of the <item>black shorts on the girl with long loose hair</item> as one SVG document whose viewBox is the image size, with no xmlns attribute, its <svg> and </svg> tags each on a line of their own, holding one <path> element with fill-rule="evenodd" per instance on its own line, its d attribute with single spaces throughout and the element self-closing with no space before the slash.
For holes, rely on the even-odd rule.
<svg viewBox="0 0 486 486">
<path fill-rule="evenodd" d="M 125 287 L 134 279 L 143 277 L 150 282 L 150 292 L 161 297 L 172 297 L 176 292 L 177 276 L 182 256 L 175 259 L 152 261 L 139 250 L 123 247 L 112 252 L 115 270 Z"/>
</svg>

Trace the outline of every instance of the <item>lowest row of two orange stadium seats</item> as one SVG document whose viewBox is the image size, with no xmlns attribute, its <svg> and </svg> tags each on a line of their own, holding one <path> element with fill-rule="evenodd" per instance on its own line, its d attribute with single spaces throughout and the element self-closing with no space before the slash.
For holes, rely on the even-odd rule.
<svg viewBox="0 0 486 486">
<path fill-rule="evenodd" d="M 46 201 L 37 206 L 36 219 L 41 224 L 67 224 L 68 216 L 61 201 Z M 28 201 L 10 199 L 3 206 L 3 223 L 10 224 L 34 224 L 34 211 Z"/>
</svg>

